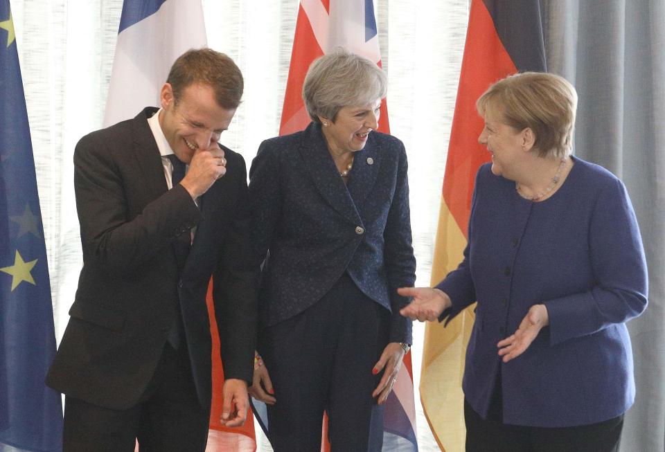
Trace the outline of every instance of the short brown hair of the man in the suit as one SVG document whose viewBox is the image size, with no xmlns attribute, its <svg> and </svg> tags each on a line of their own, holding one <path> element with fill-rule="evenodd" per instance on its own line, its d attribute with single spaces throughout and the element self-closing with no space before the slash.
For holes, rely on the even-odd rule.
<svg viewBox="0 0 665 452">
<path fill-rule="evenodd" d="M 204 84 L 213 89 L 218 105 L 228 110 L 238 108 L 245 86 L 236 63 L 211 48 L 191 48 L 180 55 L 166 82 L 171 85 L 176 103 L 186 87 Z"/>
</svg>

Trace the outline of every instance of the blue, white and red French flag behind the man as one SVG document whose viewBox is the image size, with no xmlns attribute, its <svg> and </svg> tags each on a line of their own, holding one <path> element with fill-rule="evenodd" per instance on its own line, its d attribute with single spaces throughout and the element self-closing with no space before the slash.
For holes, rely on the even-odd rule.
<svg viewBox="0 0 665 452">
<path fill-rule="evenodd" d="M 200 0 L 125 0 L 104 116 L 105 127 L 134 118 L 144 107 L 159 106 L 159 90 L 177 57 L 205 47 L 206 28 Z M 213 401 L 208 452 L 253 452 L 254 422 L 229 429 L 220 423 L 223 370 L 220 338 L 211 291 L 206 299 L 213 341 Z"/>
</svg>

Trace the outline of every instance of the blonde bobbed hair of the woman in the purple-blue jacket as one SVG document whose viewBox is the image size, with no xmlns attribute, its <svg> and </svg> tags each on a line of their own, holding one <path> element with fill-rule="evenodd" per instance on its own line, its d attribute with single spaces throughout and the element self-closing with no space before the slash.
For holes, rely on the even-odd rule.
<svg viewBox="0 0 665 452">
<path fill-rule="evenodd" d="M 485 116 L 487 109 L 502 123 L 535 135 L 533 147 L 541 157 L 565 158 L 572 152 L 577 92 L 565 78 L 551 73 L 524 72 L 493 84 L 476 102 Z"/>
</svg>

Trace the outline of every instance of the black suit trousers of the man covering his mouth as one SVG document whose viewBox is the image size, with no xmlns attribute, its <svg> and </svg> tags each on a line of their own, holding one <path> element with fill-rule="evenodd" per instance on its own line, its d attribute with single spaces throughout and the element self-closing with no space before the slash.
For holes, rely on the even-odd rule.
<svg viewBox="0 0 665 452">
<path fill-rule="evenodd" d="M 64 452 L 204 451 L 210 408 L 202 408 L 187 347 L 165 345 L 139 404 L 111 410 L 65 397 Z"/>
</svg>

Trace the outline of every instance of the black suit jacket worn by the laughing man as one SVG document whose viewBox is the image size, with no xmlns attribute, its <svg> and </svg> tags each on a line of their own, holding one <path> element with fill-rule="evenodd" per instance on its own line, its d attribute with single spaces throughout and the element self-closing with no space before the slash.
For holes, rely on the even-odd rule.
<svg viewBox="0 0 665 452">
<path fill-rule="evenodd" d="M 179 306 L 199 402 L 209 408 L 211 275 L 224 377 L 249 382 L 253 372 L 258 269 L 247 256 L 245 161 L 222 147 L 227 173 L 197 207 L 182 186 L 167 189 L 147 121 L 156 111 L 146 108 L 76 146 L 83 269 L 46 383 L 91 404 L 131 408 L 154 373 Z M 173 242 L 193 226 L 179 275 Z"/>
</svg>

